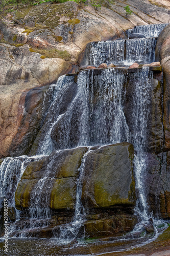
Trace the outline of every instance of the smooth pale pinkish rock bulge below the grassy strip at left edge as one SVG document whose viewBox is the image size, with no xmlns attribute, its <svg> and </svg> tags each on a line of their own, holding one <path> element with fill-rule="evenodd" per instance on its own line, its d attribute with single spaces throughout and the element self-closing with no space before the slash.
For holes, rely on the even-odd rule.
<svg viewBox="0 0 170 256">
<path fill-rule="evenodd" d="M 30 108 L 32 108 L 32 111 L 35 111 L 33 110 L 35 107 L 34 103 L 36 102 L 37 104 L 38 101 L 43 101 L 43 93 L 41 94 L 40 91 L 44 92 L 45 89 L 42 87 L 42 89 L 31 90 L 28 93 L 29 96 L 26 97 L 27 92 L 45 83 L 49 84 L 52 81 L 56 81 L 59 75 L 69 67 L 69 63 L 59 58 L 41 59 L 40 54 L 29 51 L 28 45 L 14 47 L 1 44 L 0 51 L 2 52 L 1 56 L 3 56 L 0 67 L 0 156 L 6 157 L 12 151 L 11 144 L 13 148 L 15 143 L 12 140 L 16 140 L 15 136 L 18 136 L 18 130 L 20 130 L 19 134 L 22 133 L 22 136 L 24 136 L 24 133 L 27 133 L 27 129 L 22 130 L 22 125 L 20 126 L 20 124 L 26 121 L 23 120 L 25 119 L 23 116 L 26 116 L 27 113 L 24 115 L 23 110 L 25 109 L 25 104 L 28 105 L 28 97 L 34 97 L 35 101 L 31 101 L 33 104 Z M 39 91 L 39 95 L 37 91 Z M 34 93 L 35 95 L 33 96 Z M 27 102 L 24 100 L 25 97 Z M 36 97 L 39 97 L 39 99 L 36 99 Z M 37 108 L 40 108 L 40 106 L 37 106 Z M 26 109 L 28 111 L 28 106 L 26 106 Z M 28 123 L 27 126 L 29 125 Z M 38 126 L 40 126 L 40 123 Z M 29 129 L 32 129 L 31 126 Z M 28 134 L 26 136 L 30 135 Z M 21 141 L 18 142 L 20 144 Z M 25 145 L 22 146 L 25 147 Z"/>
</svg>

